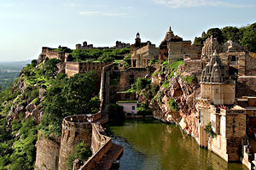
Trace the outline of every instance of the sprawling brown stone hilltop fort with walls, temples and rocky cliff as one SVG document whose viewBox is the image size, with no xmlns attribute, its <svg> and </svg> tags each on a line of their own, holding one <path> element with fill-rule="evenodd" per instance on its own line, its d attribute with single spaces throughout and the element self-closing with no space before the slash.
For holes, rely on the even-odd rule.
<svg viewBox="0 0 256 170">
<path fill-rule="evenodd" d="M 79 78 L 78 75 L 94 71 L 94 86 L 99 89 L 98 98 L 92 100 L 99 100 L 95 112 L 81 109 L 81 113 L 73 116 L 63 113 L 60 126 L 54 127 L 58 122 L 49 126 L 60 129 L 59 136 L 39 130 L 35 169 L 67 169 L 69 156 L 81 143 L 90 146 L 91 155 L 86 160 L 73 161 L 73 170 L 118 167 L 123 147 L 114 144 L 102 127 L 110 119 L 108 106 L 113 104 L 122 105 L 126 116 L 146 116 L 149 112 L 162 122 L 176 123 L 201 147 L 225 161 L 241 161 L 253 169 L 256 165 L 256 58 L 240 42 L 220 41 L 213 34 L 203 32 L 195 40 L 201 42 L 192 44 L 183 40 L 170 26 L 159 46 L 143 42 L 137 33 L 134 43 L 117 41 L 111 48 L 96 48 L 87 42 L 76 44 L 74 49 L 43 47 L 38 59 L 23 69 L 15 82 L 12 93 L 17 96 L 12 98 L 13 106 L 4 103 L 9 109 L 6 127 L 9 131 L 14 128 L 13 121 L 20 119 L 20 113 L 24 113 L 26 120 L 40 124 L 45 93 L 54 87 L 55 79 L 60 81 L 56 82 L 58 85 L 62 79 Z M 41 75 L 37 83 L 27 80 L 37 75 Z M 51 90 L 57 93 L 63 87 Z M 68 87 L 63 89 L 72 95 Z M 56 107 L 64 105 L 60 103 Z M 138 103 L 143 111 L 137 110 Z M 111 118 L 117 119 L 117 115 Z M 50 116 L 47 121 L 54 118 Z M 20 132 L 15 135 L 19 137 Z"/>
</svg>

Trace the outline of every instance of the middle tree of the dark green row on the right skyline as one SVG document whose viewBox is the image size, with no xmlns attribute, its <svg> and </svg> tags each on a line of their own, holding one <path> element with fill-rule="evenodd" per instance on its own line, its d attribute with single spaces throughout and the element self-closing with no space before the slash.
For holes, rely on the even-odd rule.
<svg viewBox="0 0 256 170">
<path fill-rule="evenodd" d="M 224 42 L 227 42 L 229 40 L 233 42 L 241 42 L 241 37 L 239 34 L 239 29 L 234 26 L 225 26 L 221 29 L 224 36 Z"/>
</svg>

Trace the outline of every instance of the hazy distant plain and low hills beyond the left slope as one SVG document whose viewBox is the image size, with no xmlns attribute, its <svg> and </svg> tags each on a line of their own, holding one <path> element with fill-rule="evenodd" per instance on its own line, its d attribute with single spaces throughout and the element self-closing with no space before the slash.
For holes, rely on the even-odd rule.
<svg viewBox="0 0 256 170">
<path fill-rule="evenodd" d="M 31 61 L 31 59 L 14 62 L 0 61 L 0 86 L 2 86 L 3 89 L 7 88 L 9 84 L 19 76 L 21 69 L 27 64 L 30 64 Z"/>
</svg>

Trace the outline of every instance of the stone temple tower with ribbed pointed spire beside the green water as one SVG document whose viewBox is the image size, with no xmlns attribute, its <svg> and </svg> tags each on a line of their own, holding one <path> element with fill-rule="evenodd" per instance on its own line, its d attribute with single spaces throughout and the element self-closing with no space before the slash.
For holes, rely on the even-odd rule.
<svg viewBox="0 0 256 170">
<path fill-rule="evenodd" d="M 201 96 L 198 105 L 201 118 L 198 129 L 198 142 L 202 147 L 208 147 L 209 137 L 204 130 L 205 127 L 209 122 L 212 122 L 212 125 L 220 122 L 220 116 L 216 114 L 219 106 L 234 105 L 235 86 L 235 81 L 230 79 L 227 68 L 223 65 L 215 50 L 201 73 Z M 224 122 L 225 117 L 222 119 Z M 215 127 L 216 129 L 219 128 L 219 126 Z"/>
</svg>

